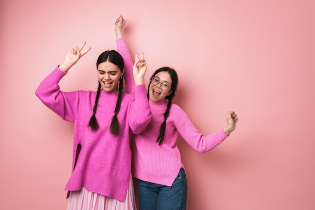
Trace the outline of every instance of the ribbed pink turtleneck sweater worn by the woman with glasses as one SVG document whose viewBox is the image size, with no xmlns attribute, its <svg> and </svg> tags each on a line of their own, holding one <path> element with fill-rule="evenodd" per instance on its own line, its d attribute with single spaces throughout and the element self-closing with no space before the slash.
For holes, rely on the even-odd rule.
<svg viewBox="0 0 315 210">
<path fill-rule="evenodd" d="M 123 39 L 117 40 L 117 45 L 120 42 L 123 42 Z M 123 46 L 122 43 L 120 45 Z M 128 51 L 121 50 L 120 54 L 124 58 L 125 65 L 130 65 Z M 126 84 L 133 84 L 132 77 L 125 76 L 125 82 Z M 149 105 L 152 120 L 141 133 L 135 135 L 135 146 L 132 151 L 133 176 L 138 179 L 172 186 L 180 168 L 184 167 L 180 151 L 176 146 L 178 134 L 198 152 L 208 152 L 227 138 L 223 129 L 209 136 L 202 135 L 194 127 L 186 113 L 176 104 L 172 104 L 166 122 L 165 139 L 160 146 L 156 139 L 160 134 L 160 127 L 164 121 L 167 101 L 166 99 L 158 102 L 149 100 Z"/>
</svg>

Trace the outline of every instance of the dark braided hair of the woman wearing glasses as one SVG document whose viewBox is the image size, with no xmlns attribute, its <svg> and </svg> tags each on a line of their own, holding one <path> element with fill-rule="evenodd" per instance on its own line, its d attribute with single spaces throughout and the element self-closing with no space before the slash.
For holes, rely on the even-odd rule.
<svg viewBox="0 0 315 210">
<path fill-rule="evenodd" d="M 162 67 L 157 69 L 153 75 L 151 76 L 151 78 L 153 78 L 157 73 L 161 72 L 161 71 L 166 71 L 170 74 L 170 77 L 172 79 L 172 85 L 171 85 L 171 90 L 172 93 L 170 95 L 167 95 L 165 98 L 168 100 L 168 106 L 167 109 L 164 113 L 164 122 L 160 128 L 160 134 L 159 137 L 157 137 L 156 142 L 159 142 L 159 145 L 162 145 L 163 141 L 164 141 L 164 137 L 165 137 L 165 129 L 166 129 L 166 120 L 169 117 L 170 114 L 170 109 L 172 107 L 172 100 L 173 97 L 175 96 L 176 90 L 177 90 L 177 86 L 178 86 L 178 76 L 176 71 L 173 68 L 170 67 Z M 147 91 L 147 98 L 149 99 L 149 88 L 150 88 L 150 84 L 151 84 L 151 80 L 149 82 L 149 86 L 148 86 L 148 91 Z"/>
</svg>

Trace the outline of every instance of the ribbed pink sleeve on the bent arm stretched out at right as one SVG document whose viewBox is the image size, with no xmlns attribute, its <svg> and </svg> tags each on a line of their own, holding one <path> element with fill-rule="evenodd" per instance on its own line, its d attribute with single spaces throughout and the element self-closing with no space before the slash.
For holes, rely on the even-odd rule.
<svg viewBox="0 0 315 210">
<path fill-rule="evenodd" d="M 179 107 L 178 107 L 179 108 Z M 208 152 L 223 142 L 228 136 L 223 132 L 223 128 L 219 131 L 204 136 L 201 134 L 188 116 L 182 109 L 177 109 L 177 125 L 176 128 L 179 134 L 185 139 L 185 141 L 193 147 L 197 152 Z"/>
</svg>

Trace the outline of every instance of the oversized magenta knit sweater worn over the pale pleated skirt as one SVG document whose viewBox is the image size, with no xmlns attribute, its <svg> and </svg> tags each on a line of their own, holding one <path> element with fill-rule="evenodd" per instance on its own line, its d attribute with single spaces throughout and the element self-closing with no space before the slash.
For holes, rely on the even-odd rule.
<svg viewBox="0 0 315 210">
<path fill-rule="evenodd" d="M 112 135 L 109 127 L 118 93 L 101 90 L 96 111 L 100 128 L 92 131 L 88 125 L 93 114 L 96 92 L 61 91 L 58 82 L 64 75 L 66 73 L 56 67 L 40 83 L 36 95 L 63 120 L 74 123 L 72 173 L 65 190 L 85 187 L 92 192 L 123 201 L 131 171 L 130 131 L 140 133 L 151 120 L 145 86 L 134 86 L 134 94 L 123 93 L 117 115 L 120 133 Z M 82 149 L 75 164 L 79 144 Z"/>
</svg>

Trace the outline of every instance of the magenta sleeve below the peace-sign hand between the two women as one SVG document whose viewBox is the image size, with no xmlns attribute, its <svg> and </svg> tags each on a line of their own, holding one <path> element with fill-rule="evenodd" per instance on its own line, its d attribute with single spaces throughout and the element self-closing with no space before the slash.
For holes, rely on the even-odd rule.
<svg viewBox="0 0 315 210">
<path fill-rule="evenodd" d="M 151 108 L 145 93 L 145 85 L 134 86 L 134 101 L 129 113 L 129 127 L 134 134 L 141 133 L 151 121 Z"/>
</svg>

